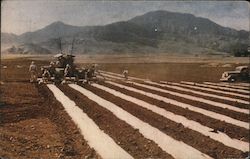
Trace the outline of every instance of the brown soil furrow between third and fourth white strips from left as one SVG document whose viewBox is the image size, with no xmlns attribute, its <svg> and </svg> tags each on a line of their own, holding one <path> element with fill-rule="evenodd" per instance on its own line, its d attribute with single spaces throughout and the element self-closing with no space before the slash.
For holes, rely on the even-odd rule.
<svg viewBox="0 0 250 159">
<path fill-rule="evenodd" d="M 177 107 L 175 105 L 165 103 L 157 99 L 154 99 L 154 98 L 151 98 L 151 97 L 148 97 L 148 96 L 145 96 L 145 95 L 133 92 L 133 91 L 129 91 L 124 88 L 120 88 L 120 87 L 117 87 L 108 83 L 101 83 L 101 84 L 111 89 L 122 92 L 124 94 L 130 95 L 132 97 L 148 102 L 150 104 L 159 106 L 160 108 L 173 112 L 174 114 L 182 115 L 190 120 L 197 121 L 201 123 L 202 125 L 224 132 L 232 138 L 243 139 L 244 141 L 249 142 L 249 132 L 244 128 L 237 127 L 235 125 L 213 119 L 203 114 L 193 112 L 188 109 L 181 108 L 181 107 Z"/>
</svg>

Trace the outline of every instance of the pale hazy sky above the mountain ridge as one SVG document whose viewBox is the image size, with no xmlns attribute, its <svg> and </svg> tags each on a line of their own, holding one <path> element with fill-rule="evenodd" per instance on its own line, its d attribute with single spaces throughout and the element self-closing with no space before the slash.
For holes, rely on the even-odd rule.
<svg viewBox="0 0 250 159">
<path fill-rule="evenodd" d="M 249 31 L 250 5 L 246 1 L 3 0 L 1 32 L 20 35 L 55 21 L 76 26 L 105 25 L 155 10 L 191 13 Z"/>
</svg>

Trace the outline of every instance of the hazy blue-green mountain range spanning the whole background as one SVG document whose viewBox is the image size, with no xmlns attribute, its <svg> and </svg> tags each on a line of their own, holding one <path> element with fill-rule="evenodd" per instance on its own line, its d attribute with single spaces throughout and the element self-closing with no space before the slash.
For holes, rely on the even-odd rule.
<svg viewBox="0 0 250 159">
<path fill-rule="evenodd" d="M 235 46 L 248 44 L 249 32 L 222 27 L 192 14 L 153 11 L 104 26 L 54 22 L 40 30 L 3 39 L 19 45 L 36 44 L 53 53 L 60 48 L 71 51 L 74 41 L 75 53 L 203 54 L 232 53 Z"/>
</svg>

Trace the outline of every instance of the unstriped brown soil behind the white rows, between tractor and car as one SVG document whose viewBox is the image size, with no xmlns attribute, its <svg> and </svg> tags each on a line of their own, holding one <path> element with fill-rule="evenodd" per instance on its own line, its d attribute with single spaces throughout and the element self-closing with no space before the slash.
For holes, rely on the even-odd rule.
<svg viewBox="0 0 250 159">
<path fill-rule="evenodd" d="M 122 73 L 124 69 L 129 70 L 129 75 L 155 81 L 193 81 L 218 82 L 224 71 L 234 69 L 230 67 L 211 67 L 203 63 L 121 63 L 121 64 L 100 64 L 100 69 Z"/>
</svg>

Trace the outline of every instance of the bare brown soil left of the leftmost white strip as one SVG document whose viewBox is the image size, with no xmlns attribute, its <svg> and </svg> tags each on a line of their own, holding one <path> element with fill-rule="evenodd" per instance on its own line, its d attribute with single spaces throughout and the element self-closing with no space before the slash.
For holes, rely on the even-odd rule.
<svg viewBox="0 0 250 159">
<path fill-rule="evenodd" d="M 28 82 L 29 64 L 2 61 L 0 158 L 100 158 L 47 87 Z"/>
</svg>

